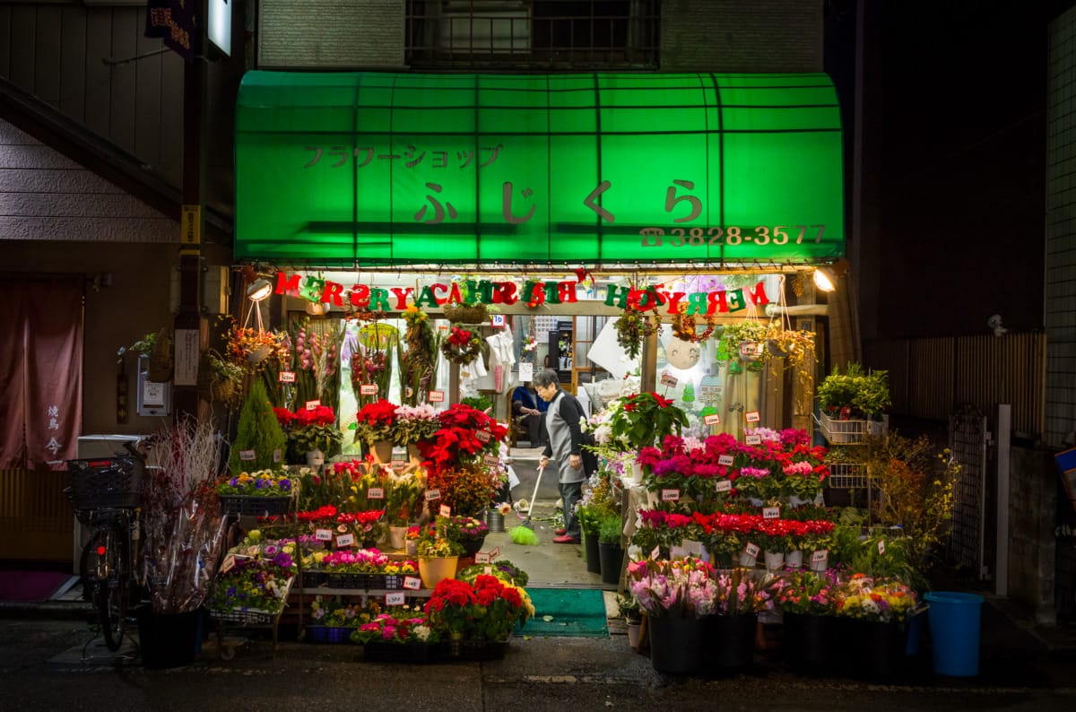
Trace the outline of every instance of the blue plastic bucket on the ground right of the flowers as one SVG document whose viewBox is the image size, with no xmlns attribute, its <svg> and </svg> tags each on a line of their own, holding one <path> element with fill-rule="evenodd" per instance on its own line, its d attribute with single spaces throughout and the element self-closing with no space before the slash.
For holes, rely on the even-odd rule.
<svg viewBox="0 0 1076 712">
<path fill-rule="evenodd" d="M 982 596 L 935 590 L 923 598 L 931 604 L 931 643 L 934 671 L 955 678 L 979 674 L 979 625 Z"/>
</svg>

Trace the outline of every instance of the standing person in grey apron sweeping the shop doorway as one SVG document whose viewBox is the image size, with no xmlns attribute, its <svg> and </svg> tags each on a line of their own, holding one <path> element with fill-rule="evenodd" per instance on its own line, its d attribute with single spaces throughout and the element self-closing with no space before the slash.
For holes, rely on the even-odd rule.
<svg viewBox="0 0 1076 712">
<path fill-rule="evenodd" d="M 583 408 L 575 396 L 561 388 L 561 381 L 552 369 L 536 373 L 534 385 L 538 397 L 549 403 L 546 411 L 549 442 L 538 467 L 544 469 L 551 459 L 556 462 L 557 483 L 564 502 L 564 528 L 556 530 L 553 541 L 557 544 L 578 544 L 582 531 L 576 516 L 576 502 L 582 496 L 587 474 L 581 450 L 583 433 L 579 428 Z"/>
</svg>

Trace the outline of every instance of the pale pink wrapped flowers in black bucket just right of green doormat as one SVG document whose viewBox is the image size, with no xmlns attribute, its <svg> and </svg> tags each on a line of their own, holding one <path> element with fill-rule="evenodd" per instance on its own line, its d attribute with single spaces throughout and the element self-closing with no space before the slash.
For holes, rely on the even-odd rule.
<svg viewBox="0 0 1076 712">
<path fill-rule="evenodd" d="M 650 615 L 699 618 L 713 612 L 713 569 L 692 556 L 649 558 L 627 565 L 628 588 Z"/>
</svg>

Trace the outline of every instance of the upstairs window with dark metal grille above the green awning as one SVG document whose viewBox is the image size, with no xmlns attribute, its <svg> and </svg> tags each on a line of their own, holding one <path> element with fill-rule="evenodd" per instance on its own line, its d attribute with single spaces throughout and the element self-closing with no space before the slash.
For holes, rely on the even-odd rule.
<svg viewBox="0 0 1076 712">
<path fill-rule="evenodd" d="M 415 69 L 656 69 L 660 0 L 410 0 Z"/>
</svg>

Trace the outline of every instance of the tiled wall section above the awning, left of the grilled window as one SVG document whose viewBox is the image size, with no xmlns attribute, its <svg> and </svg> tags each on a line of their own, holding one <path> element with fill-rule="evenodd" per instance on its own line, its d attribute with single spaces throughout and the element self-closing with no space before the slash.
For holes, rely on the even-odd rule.
<svg viewBox="0 0 1076 712">
<path fill-rule="evenodd" d="M 405 0 L 261 0 L 258 67 L 399 68 Z"/>
</svg>

